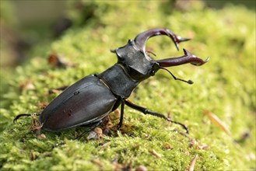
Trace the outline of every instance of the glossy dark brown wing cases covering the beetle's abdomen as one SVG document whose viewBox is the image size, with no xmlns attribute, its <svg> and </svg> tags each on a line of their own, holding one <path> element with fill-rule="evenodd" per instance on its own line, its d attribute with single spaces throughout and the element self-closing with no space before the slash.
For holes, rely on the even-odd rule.
<svg viewBox="0 0 256 171">
<path fill-rule="evenodd" d="M 47 131 L 63 131 L 97 122 L 112 111 L 117 98 L 100 79 L 89 75 L 65 89 L 41 113 Z"/>
</svg>

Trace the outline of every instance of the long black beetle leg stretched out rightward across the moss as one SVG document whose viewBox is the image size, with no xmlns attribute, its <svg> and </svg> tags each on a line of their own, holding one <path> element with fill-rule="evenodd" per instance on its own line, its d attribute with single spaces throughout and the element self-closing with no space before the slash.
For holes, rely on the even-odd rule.
<svg viewBox="0 0 256 171">
<path fill-rule="evenodd" d="M 142 112 L 142 113 L 144 113 L 144 114 L 150 114 L 150 115 L 153 115 L 153 116 L 156 116 L 156 117 L 161 117 L 161 118 L 163 118 L 163 119 L 165 119 L 165 120 L 168 120 L 168 121 L 170 121 L 170 122 L 172 122 L 172 123 L 174 123 L 174 124 L 179 124 L 179 125 L 181 125 L 181 126 L 186 130 L 186 133 L 187 133 L 187 134 L 189 133 L 189 132 L 188 132 L 188 127 L 187 127 L 185 124 L 181 124 L 180 122 L 177 122 L 177 121 L 175 121 L 175 120 L 170 120 L 169 118 L 165 117 L 165 116 L 164 116 L 163 114 L 161 114 L 161 113 L 157 113 L 157 112 L 148 110 L 148 109 L 146 109 L 145 107 L 135 105 L 134 103 L 130 103 L 130 102 L 128 102 L 127 100 L 124 100 L 124 102 L 125 102 L 125 104 L 126 104 L 127 106 L 131 107 L 131 108 L 134 109 L 134 110 L 138 110 L 138 111 L 140 111 L 140 112 Z"/>
</svg>

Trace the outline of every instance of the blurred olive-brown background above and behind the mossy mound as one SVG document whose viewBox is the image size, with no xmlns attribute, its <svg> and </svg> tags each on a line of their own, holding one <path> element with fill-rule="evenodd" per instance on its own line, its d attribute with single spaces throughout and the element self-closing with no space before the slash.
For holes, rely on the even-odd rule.
<svg viewBox="0 0 256 171">
<path fill-rule="evenodd" d="M 193 1 L 170 1 L 172 4 L 180 5 L 179 8 L 189 8 Z M 196 1 L 195 1 L 196 2 Z M 243 5 L 248 10 L 255 11 L 254 0 L 228 0 L 228 1 L 204 1 L 205 5 L 212 9 L 223 9 L 226 5 Z M 96 20 L 93 16 L 93 5 L 86 8 L 81 14 L 81 20 L 72 21 L 72 8 L 65 1 L 1 1 L 1 67 L 6 68 L 20 65 L 26 58 L 31 47 L 42 44 L 44 41 L 54 40 L 64 33 L 72 25 L 85 25 L 89 20 Z M 100 17 L 100 16 L 97 16 Z M 73 23 L 72 23 L 73 22 Z M 97 22 L 97 21 L 94 21 Z M 100 23 L 99 23 L 100 24 Z"/>
</svg>

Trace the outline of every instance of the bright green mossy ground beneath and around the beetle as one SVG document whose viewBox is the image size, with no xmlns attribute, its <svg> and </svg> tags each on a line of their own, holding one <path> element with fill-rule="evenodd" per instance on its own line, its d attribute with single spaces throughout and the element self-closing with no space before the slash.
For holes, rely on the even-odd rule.
<svg viewBox="0 0 256 171">
<path fill-rule="evenodd" d="M 196 154 L 195 170 L 256 169 L 254 11 L 238 5 L 209 9 L 198 1 L 192 1 L 188 9 L 174 9 L 169 2 L 84 5 L 93 10 L 93 18 L 86 24 L 82 23 L 86 10 L 71 10 L 76 26 L 52 44 L 35 47 L 34 58 L 17 67 L 15 74 L 1 72 L 5 91 L 1 91 L 0 169 L 118 170 L 142 165 L 149 170 L 184 170 Z M 49 89 L 103 72 L 117 61 L 110 49 L 155 27 L 191 37 L 193 40 L 181 44 L 181 49 L 211 59 L 202 67 L 170 68 L 177 77 L 193 80 L 192 86 L 160 71 L 142 82 L 129 99 L 150 110 L 170 113 L 174 120 L 188 125 L 190 134 L 183 134 L 178 125 L 128 107 L 123 129 L 99 141 L 72 141 L 75 132 L 79 134 L 83 128 L 59 134 L 43 131 L 46 139 L 41 140 L 30 131 L 30 117 L 12 124 L 19 113 L 40 113 L 40 104 L 57 96 L 49 95 Z M 154 37 L 147 47 L 156 58 L 183 55 L 167 37 Z M 47 57 L 53 51 L 75 67 L 51 68 Z M 21 89 L 28 80 L 33 89 Z M 232 135 L 212 124 L 206 110 L 215 113 Z M 60 141 L 66 145 L 51 148 Z M 200 145 L 208 148 L 200 149 Z M 153 155 L 153 150 L 161 157 Z"/>
</svg>

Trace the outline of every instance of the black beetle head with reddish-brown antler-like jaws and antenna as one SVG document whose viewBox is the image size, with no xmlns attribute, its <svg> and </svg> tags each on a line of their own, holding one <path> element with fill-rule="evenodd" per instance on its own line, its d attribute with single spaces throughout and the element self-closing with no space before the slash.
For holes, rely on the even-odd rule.
<svg viewBox="0 0 256 171">
<path fill-rule="evenodd" d="M 191 63 L 192 65 L 203 65 L 205 62 L 209 61 L 209 58 L 203 61 L 201 58 L 198 58 L 185 49 L 184 55 L 181 57 L 154 60 L 146 51 L 146 41 L 150 37 L 159 35 L 170 37 L 174 41 L 177 50 L 179 50 L 180 42 L 190 40 L 180 37 L 170 30 L 159 28 L 140 33 L 137 37 L 135 37 L 135 40 L 128 40 L 128 44 L 126 44 L 124 47 L 120 47 L 112 51 L 117 54 L 117 64 L 123 66 L 132 79 L 141 82 L 142 80 L 148 79 L 150 76 L 155 75 L 159 69 L 167 70 L 165 67 L 184 65 L 187 63 Z M 174 75 L 173 77 L 176 79 Z M 179 80 L 184 81 L 183 79 Z M 191 81 L 188 81 L 188 83 L 191 83 Z"/>
</svg>

